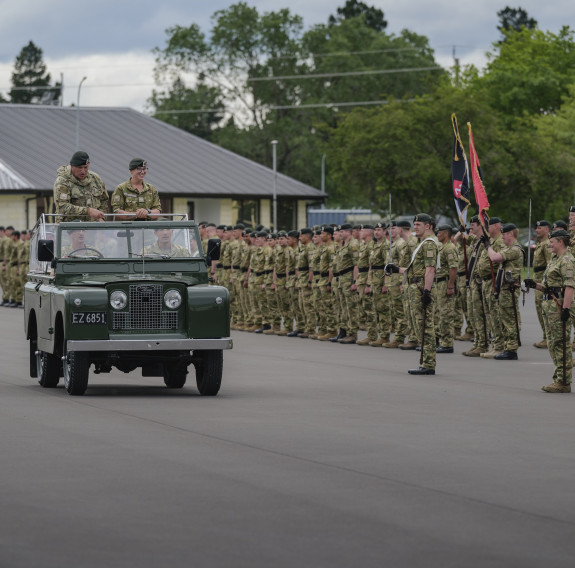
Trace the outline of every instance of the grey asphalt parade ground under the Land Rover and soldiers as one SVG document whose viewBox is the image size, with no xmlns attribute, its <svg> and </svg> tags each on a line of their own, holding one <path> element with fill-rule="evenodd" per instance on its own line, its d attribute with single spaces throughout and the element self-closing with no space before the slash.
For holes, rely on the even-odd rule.
<svg viewBox="0 0 575 568">
<path fill-rule="evenodd" d="M 575 394 L 533 294 L 517 362 L 235 332 L 220 395 L 139 372 L 28 376 L 0 309 L 0 566 L 575 563 Z"/>
</svg>

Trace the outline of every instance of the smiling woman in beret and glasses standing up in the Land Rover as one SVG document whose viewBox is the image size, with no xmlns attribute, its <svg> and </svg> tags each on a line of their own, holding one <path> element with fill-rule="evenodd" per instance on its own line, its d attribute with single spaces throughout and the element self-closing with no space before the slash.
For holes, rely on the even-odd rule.
<svg viewBox="0 0 575 568">
<path fill-rule="evenodd" d="M 112 194 L 112 209 L 120 221 L 147 219 L 149 215 L 160 215 L 162 205 L 158 190 L 144 181 L 148 173 L 148 162 L 133 158 L 128 165 L 130 179 L 121 183 Z"/>
</svg>

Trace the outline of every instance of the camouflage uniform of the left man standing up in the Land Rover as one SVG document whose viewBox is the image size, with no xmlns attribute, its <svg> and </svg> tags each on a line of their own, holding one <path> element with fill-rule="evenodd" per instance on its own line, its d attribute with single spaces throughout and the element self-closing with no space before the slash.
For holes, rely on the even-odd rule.
<svg viewBox="0 0 575 568">
<path fill-rule="evenodd" d="M 79 180 L 72 175 L 70 166 L 59 167 L 57 173 L 54 205 L 56 213 L 65 215 L 62 221 L 94 221 L 88 215 L 90 207 L 110 212 L 110 198 L 98 174 L 89 171 L 83 180 Z"/>
</svg>

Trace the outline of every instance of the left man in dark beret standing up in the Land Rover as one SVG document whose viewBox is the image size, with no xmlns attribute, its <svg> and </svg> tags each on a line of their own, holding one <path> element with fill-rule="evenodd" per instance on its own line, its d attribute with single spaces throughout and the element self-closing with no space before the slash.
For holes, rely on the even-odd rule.
<svg viewBox="0 0 575 568">
<path fill-rule="evenodd" d="M 104 221 L 110 212 L 110 197 L 100 176 L 88 169 L 90 157 L 75 152 L 67 166 L 58 168 L 54 182 L 56 213 L 62 221 Z"/>
</svg>

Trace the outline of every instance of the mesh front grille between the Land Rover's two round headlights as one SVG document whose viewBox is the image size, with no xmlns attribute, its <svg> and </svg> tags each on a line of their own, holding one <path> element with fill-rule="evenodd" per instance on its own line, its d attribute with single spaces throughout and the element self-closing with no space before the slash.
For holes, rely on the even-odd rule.
<svg viewBox="0 0 575 568">
<path fill-rule="evenodd" d="M 178 312 L 164 310 L 161 284 L 130 284 L 127 312 L 114 312 L 114 330 L 177 329 Z"/>
</svg>

